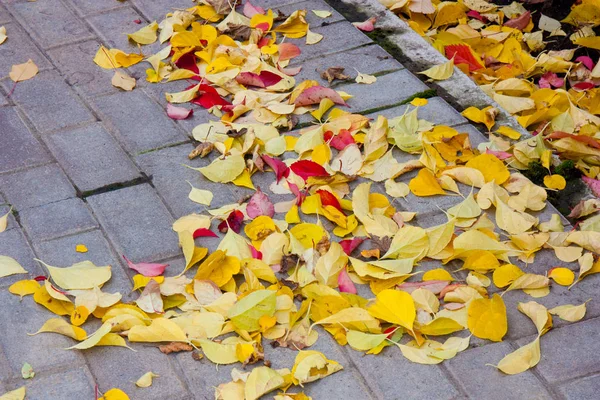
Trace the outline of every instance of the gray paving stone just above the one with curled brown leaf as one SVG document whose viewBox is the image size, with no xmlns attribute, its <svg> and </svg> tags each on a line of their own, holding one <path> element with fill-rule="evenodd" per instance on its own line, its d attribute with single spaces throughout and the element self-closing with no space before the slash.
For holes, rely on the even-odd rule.
<svg viewBox="0 0 600 400">
<path fill-rule="evenodd" d="M 326 54 L 341 52 L 359 47 L 371 42 L 368 36 L 363 34 L 350 22 L 342 21 L 321 28 L 311 29 L 315 33 L 323 35 L 323 39 L 316 44 L 307 45 L 306 38 L 291 39 L 302 54 L 292 60 L 293 65 L 301 65 L 304 60 L 322 57 Z"/>
</svg>

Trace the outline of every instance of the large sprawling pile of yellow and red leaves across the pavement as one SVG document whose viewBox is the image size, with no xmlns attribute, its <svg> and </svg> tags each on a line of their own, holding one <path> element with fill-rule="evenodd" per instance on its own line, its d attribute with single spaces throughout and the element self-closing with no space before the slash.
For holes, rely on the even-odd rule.
<svg viewBox="0 0 600 400">
<path fill-rule="evenodd" d="M 425 99 L 415 99 L 404 115 L 389 120 L 351 114 L 343 108 L 349 95 L 315 81 L 296 84 L 291 74 L 297 69 L 286 66 L 291 49 L 297 53 L 287 40 L 312 40 L 306 11 L 275 25 L 272 10 L 246 2 L 240 13 L 224 4 L 207 1 L 176 11 L 129 35 L 140 44 L 169 42 L 155 55 L 100 48 L 95 60 L 103 67 L 126 67 L 144 59 L 152 66 L 149 81 L 198 82 L 166 96 L 220 116 L 193 131 L 199 145 L 190 157 L 211 160 L 199 174 L 250 188 L 253 176 L 270 174 L 272 194 L 257 189 L 249 199 L 210 208 L 212 193 L 192 187 L 190 199 L 206 211 L 173 224 L 185 268 L 165 276 L 166 264 L 125 258 L 137 273 L 133 285 L 139 296 L 132 303 L 102 290 L 110 266 L 43 264 L 48 276 L 9 288 L 21 297 L 32 295 L 55 314 L 36 334 L 68 336 L 74 340 L 70 350 L 129 351 L 128 343 L 143 342 L 167 354 L 193 351 L 201 362 L 243 367 L 262 362 L 249 371 L 234 369 L 215 398 L 257 399 L 280 390 L 278 400 L 309 399 L 289 390 L 343 368 L 310 350 L 319 334 L 355 351 L 379 354 L 392 347 L 386 351 L 397 348 L 412 362 L 438 364 L 467 349 L 471 335 L 503 339 L 506 293 L 542 298 L 552 284 L 572 286 L 600 272 L 594 257 L 600 247 L 594 222 L 599 201 L 582 202 L 577 214 L 591 215 L 590 222 L 565 232 L 557 214 L 539 220 L 547 191 L 514 168 L 548 157 L 542 135 L 516 144 L 513 153 L 480 152 L 467 133 L 419 119 Z M 171 108 L 169 114 L 185 114 L 173 107 L 176 113 Z M 308 112 L 314 126 L 279 131 Z M 556 187 L 560 178 L 551 176 L 544 184 Z M 424 229 L 414 224 L 415 212 L 394 205 L 413 196 L 459 201 L 445 210 L 445 222 Z M 218 247 L 209 251 L 215 238 Z M 532 263 L 542 250 L 564 263 L 578 261 L 577 278 L 566 267 L 541 275 L 513 264 Z M 440 267 L 425 271 L 421 264 L 427 260 Z M 457 266 L 464 271 L 460 280 L 449 272 Z M 17 261 L 0 256 L 0 277 L 19 273 L 26 271 Z M 491 294 L 492 283 L 504 292 Z M 498 360 L 496 368 L 506 374 L 540 361 L 540 338 L 551 329 L 552 315 L 577 321 L 586 304 L 547 310 L 531 300 L 518 309 L 531 318 L 538 336 Z M 101 320 L 100 328 L 85 330 L 93 319 Z M 265 342 L 297 351 L 294 365 L 271 368 Z M 136 384 L 150 386 L 153 378 L 160 379 L 149 371 Z M 25 387 L 8 396 L 24 398 Z M 103 398 L 128 397 L 113 388 Z"/>
</svg>

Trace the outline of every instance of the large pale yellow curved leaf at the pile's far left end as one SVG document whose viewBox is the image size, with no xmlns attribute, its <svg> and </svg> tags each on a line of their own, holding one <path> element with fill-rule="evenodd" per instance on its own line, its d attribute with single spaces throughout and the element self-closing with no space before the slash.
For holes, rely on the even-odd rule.
<svg viewBox="0 0 600 400">
<path fill-rule="evenodd" d="M 82 261 L 65 268 L 52 267 L 38 261 L 48 269 L 54 283 L 66 290 L 93 289 L 102 286 L 111 276 L 109 265 L 97 267 L 91 261 Z"/>
</svg>

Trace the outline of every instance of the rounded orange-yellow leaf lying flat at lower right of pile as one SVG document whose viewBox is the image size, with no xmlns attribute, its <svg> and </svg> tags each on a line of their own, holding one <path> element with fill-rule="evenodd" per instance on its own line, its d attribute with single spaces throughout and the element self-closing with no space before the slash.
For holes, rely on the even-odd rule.
<svg viewBox="0 0 600 400">
<path fill-rule="evenodd" d="M 467 324 L 471 333 L 478 338 L 501 341 L 508 329 L 506 306 L 502 297 L 495 293 L 491 299 L 471 301 Z"/>
</svg>

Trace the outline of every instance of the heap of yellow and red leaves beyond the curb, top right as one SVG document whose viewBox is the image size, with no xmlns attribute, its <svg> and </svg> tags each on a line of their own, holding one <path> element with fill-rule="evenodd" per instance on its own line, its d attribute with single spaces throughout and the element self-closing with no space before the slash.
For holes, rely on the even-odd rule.
<svg viewBox="0 0 600 400">
<path fill-rule="evenodd" d="M 542 137 L 548 151 L 573 160 L 584 181 L 597 185 L 600 2 L 534 0 L 503 6 L 485 0 L 379 2 L 450 60 L 425 71 L 430 78 L 447 79 L 456 65 L 523 127 Z M 520 135 L 506 127 L 494 129 L 493 107 L 471 107 L 464 115 L 490 131 L 485 147 L 514 154 L 511 166 L 525 169 L 531 162 L 541 162 L 547 174 L 553 169 L 548 153 L 519 156 L 521 150 L 511 140 Z"/>
</svg>

